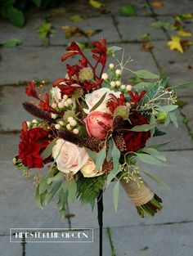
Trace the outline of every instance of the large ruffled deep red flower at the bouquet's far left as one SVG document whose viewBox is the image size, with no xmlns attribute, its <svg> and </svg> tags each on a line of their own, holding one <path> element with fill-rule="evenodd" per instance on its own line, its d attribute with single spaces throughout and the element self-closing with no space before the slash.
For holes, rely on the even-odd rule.
<svg viewBox="0 0 193 256">
<path fill-rule="evenodd" d="M 22 164 L 29 168 L 43 168 L 41 153 L 48 145 L 48 132 L 43 128 L 21 130 L 19 158 Z"/>
</svg>

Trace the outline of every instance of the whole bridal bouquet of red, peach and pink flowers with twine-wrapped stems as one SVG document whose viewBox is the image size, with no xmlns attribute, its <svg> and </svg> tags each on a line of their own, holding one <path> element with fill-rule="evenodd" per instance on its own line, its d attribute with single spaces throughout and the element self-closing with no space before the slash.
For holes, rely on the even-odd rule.
<svg viewBox="0 0 193 256">
<path fill-rule="evenodd" d="M 165 164 L 158 151 L 161 144 L 146 146 L 146 142 L 165 134 L 157 127 L 161 119 L 165 125 L 172 121 L 177 126 L 173 88 L 157 74 L 130 70 L 132 59 L 125 60 L 124 49 L 107 48 L 104 38 L 88 51 L 92 58 L 75 42 L 66 51 L 61 61 L 79 56 L 79 64 L 67 64 L 65 78 L 53 82 L 52 88 L 45 81 L 32 81 L 25 89 L 34 100 L 23 107 L 36 119 L 22 124 L 14 164 L 25 177 L 34 178 L 40 208 L 58 196 L 61 218 L 67 202 L 75 198 L 93 209 L 100 191 L 112 181 L 115 210 L 121 184 L 142 218 L 154 216 L 162 209 L 162 200 L 143 180 L 137 162 Z M 107 56 L 113 61 L 106 68 Z M 123 72 L 141 82 L 124 83 Z M 143 173 L 164 184 L 151 173 Z"/>
</svg>

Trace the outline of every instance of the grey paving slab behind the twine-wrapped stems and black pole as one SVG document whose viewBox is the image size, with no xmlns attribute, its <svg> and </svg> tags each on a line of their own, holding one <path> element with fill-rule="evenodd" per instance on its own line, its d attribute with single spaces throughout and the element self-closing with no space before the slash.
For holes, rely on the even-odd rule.
<svg viewBox="0 0 193 256">
<path fill-rule="evenodd" d="M 105 227 L 125 227 L 139 226 L 147 224 L 161 224 L 168 222 L 192 221 L 192 150 L 165 152 L 167 157 L 167 167 L 140 164 L 140 170 L 152 173 L 166 182 L 171 187 L 171 191 L 158 186 L 149 178 L 146 182 L 153 191 L 164 201 L 164 208 L 156 214 L 154 218 L 141 218 L 138 216 L 135 207 L 128 199 L 128 196 L 120 187 L 118 213 L 114 213 L 112 188 L 110 184 L 104 194 L 104 226 Z M 89 205 L 80 206 L 79 203 L 70 204 L 70 213 L 74 213 L 71 218 L 72 227 L 97 227 L 96 209 L 94 215 Z"/>
</svg>

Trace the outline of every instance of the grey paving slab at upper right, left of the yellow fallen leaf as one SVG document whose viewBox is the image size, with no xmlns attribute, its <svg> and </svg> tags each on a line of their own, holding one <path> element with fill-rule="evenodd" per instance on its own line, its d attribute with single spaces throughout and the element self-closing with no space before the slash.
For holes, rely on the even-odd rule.
<svg viewBox="0 0 193 256">
<path fill-rule="evenodd" d="M 117 17 L 118 28 L 124 41 L 142 41 L 141 36 L 150 34 L 152 41 L 166 40 L 166 35 L 162 30 L 157 31 L 152 28 L 151 23 L 155 19 L 150 17 Z"/>
</svg>

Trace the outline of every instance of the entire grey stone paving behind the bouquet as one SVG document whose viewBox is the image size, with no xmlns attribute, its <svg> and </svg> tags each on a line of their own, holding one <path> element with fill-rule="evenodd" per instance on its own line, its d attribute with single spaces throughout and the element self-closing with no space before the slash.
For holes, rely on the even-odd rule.
<svg viewBox="0 0 193 256">
<path fill-rule="evenodd" d="M 137 10 L 137 16 L 126 17 L 120 13 L 120 7 L 128 4 L 127 0 L 104 1 L 111 12 L 101 14 L 90 7 L 86 1 L 70 3 L 66 12 L 30 11 L 27 24 L 18 29 L 0 20 L 0 42 L 11 38 L 23 40 L 23 45 L 0 49 L 0 248 L 1 256 L 34 255 L 98 255 L 98 225 L 96 209 L 80 206 L 78 202 L 69 205 L 69 213 L 74 216 L 59 220 L 54 203 L 46 209 L 38 209 L 34 204 L 34 189 L 22 177 L 22 173 L 11 165 L 11 158 L 17 154 L 20 122 L 31 117 L 22 110 L 20 104 L 26 100 L 23 82 L 31 79 L 52 81 L 65 75 L 65 64 L 60 56 L 70 40 L 85 43 L 85 38 L 65 38 L 61 26 L 79 26 L 81 29 L 99 29 L 91 40 L 102 36 L 109 45 L 119 45 L 132 56 L 133 70 L 146 69 L 155 73 L 162 72 L 170 78 L 170 83 L 193 81 L 193 47 L 181 54 L 171 52 L 166 43 L 169 33 L 163 29 L 154 29 L 153 21 L 173 20 L 177 14 L 189 13 L 193 9 L 191 0 L 163 0 L 164 7 L 150 6 L 150 1 L 129 1 Z M 151 1 L 152 2 L 152 1 Z M 143 5 L 147 8 L 143 8 Z M 80 14 L 86 20 L 74 23 L 70 16 Z M 38 38 L 37 28 L 46 15 L 50 16 L 55 32 L 50 38 L 50 46 L 43 47 Z M 190 29 L 192 24 L 188 25 Z M 141 52 L 141 35 L 149 33 L 154 48 L 150 52 Z M 75 60 L 75 59 L 74 59 Z M 127 74 L 125 79 L 128 79 Z M 193 89 L 179 90 L 178 97 L 183 102 L 178 112 L 179 128 L 163 128 L 173 138 L 163 147 L 168 159 L 167 167 L 147 166 L 141 169 L 152 172 L 168 183 L 171 191 L 149 181 L 150 186 L 164 200 L 164 209 L 155 218 L 141 219 L 123 190 L 119 195 L 119 211 L 114 213 L 112 187 L 104 195 L 104 256 L 192 256 L 193 251 Z M 163 125 L 161 125 L 163 126 Z M 160 138 L 161 140 L 162 138 Z M 9 240 L 11 227 L 93 227 L 92 244 L 13 244 Z M 107 227 L 110 233 L 107 236 Z"/>
</svg>

